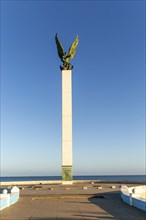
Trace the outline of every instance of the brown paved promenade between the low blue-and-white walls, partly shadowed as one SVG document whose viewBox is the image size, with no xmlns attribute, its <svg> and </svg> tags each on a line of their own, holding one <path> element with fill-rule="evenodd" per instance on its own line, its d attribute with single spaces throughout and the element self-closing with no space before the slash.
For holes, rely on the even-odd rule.
<svg viewBox="0 0 146 220">
<path fill-rule="evenodd" d="M 30 186 L 1 220 L 145 220 L 146 212 L 121 201 L 120 184 Z"/>
</svg>

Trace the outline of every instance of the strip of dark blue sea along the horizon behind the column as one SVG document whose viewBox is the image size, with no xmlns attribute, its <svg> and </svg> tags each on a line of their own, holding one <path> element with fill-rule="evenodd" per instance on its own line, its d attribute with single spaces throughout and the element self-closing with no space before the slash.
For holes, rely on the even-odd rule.
<svg viewBox="0 0 146 220">
<path fill-rule="evenodd" d="M 0 182 L 17 182 L 17 181 L 48 181 L 61 180 L 61 176 L 13 176 L 0 177 Z M 87 175 L 73 176 L 73 180 L 91 180 L 91 181 L 119 181 L 119 182 L 143 182 L 146 184 L 146 175 Z"/>
</svg>

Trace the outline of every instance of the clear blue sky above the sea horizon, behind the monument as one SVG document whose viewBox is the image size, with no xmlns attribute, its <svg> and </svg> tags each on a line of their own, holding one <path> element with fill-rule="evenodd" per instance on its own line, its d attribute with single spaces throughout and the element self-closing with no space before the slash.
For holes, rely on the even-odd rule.
<svg viewBox="0 0 146 220">
<path fill-rule="evenodd" d="M 145 1 L 1 1 L 1 174 L 61 175 L 61 64 L 74 175 L 144 174 Z"/>
</svg>

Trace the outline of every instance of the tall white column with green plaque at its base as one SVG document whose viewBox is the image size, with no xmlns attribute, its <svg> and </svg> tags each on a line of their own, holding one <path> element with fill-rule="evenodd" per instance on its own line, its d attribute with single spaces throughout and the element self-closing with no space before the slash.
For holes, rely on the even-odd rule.
<svg viewBox="0 0 146 220">
<path fill-rule="evenodd" d="M 72 181 L 72 71 L 62 70 L 62 181 Z"/>
</svg>

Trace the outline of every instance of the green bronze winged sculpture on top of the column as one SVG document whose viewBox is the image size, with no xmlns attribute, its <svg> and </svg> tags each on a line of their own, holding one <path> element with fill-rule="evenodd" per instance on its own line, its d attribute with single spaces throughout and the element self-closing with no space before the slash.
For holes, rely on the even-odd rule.
<svg viewBox="0 0 146 220">
<path fill-rule="evenodd" d="M 61 70 L 71 70 L 73 69 L 73 65 L 71 65 L 69 62 L 71 59 L 74 58 L 74 55 L 76 53 L 76 49 L 78 46 L 79 38 L 78 36 L 75 38 L 74 42 L 70 46 L 68 52 L 64 52 L 64 49 L 62 47 L 62 44 L 59 41 L 58 35 L 56 34 L 55 36 L 55 41 L 56 41 L 56 46 L 57 46 L 57 51 L 58 51 L 58 56 L 60 57 L 63 66 L 60 65 Z"/>
</svg>

